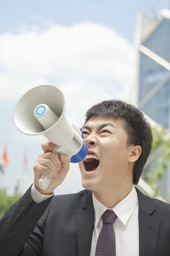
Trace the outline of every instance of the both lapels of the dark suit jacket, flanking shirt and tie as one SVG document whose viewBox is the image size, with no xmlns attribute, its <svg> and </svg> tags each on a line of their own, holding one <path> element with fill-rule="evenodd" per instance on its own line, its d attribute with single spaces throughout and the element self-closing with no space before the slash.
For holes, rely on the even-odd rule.
<svg viewBox="0 0 170 256">
<path fill-rule="evenodd" d="M 139 201 L 139 256 L 155 256 L 159 237 L 160 220 L 151 214 L 156 210 L 149 197 L 136 188 Z M 94 228 L 92 192 L 85 198 L 76 216 L 79 256 L 89 256 Z"/>
</svg>

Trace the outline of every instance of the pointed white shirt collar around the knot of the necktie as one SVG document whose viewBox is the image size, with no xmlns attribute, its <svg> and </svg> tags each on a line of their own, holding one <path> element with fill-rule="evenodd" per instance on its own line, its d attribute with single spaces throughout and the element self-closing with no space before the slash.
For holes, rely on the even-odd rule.
<svg viewBox="0 0 170 256">
<path fill-rule="evenodd" d="M 110 209 L 102 204 L 97 198 L 95 198 L 94 193 L 92 193 L 93 204 L 94 204 L 94 221 L 96 226 L 99 223 L 99 220 L 102 214 L 107 210 Z M 130 215 L 133 213 L 136 205 L 138 204 L 138 195 L 133 185 L 133 189 L 131 192 L 117 204 L 115 207 L 112 208 L 113 212 L 116 213 L 119 220 L 126 225 Z"/>
</svg>

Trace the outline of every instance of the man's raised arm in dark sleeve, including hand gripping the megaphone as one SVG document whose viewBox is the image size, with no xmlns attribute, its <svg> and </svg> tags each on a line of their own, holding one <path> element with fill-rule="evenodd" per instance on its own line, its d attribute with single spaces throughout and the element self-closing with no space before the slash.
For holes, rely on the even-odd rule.
<svg viewBox="0 0 170 256">
<path fill-rule="evenodd" d="M 42 149 L 44 154 L 34 164 L 34 195 L 30 187 L 0 220 L 0 256 L 42 256 L 43 233 L 53 191 L 63 182 L 70 166 L 69 156 L 60 154 L 59 159 L 55 156 L 56 145 L 42 143 Z M 45 191 L 38 183 L 42 174 L 52 180 Z"/>
</svg>

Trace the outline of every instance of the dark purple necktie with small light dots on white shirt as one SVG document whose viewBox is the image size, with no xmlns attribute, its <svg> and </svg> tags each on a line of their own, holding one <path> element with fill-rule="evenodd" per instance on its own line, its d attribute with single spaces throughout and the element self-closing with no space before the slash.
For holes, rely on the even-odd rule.
<svg viewBox="0 0 170 256">
<path fill-rule="evenodd" d="M 95 256 L 116 256 L 116 238 L 113 223 L 117 215 L 113 210 L 106 210 L 102 214 L 103 227 L 97 239 Z"/>
</svg>

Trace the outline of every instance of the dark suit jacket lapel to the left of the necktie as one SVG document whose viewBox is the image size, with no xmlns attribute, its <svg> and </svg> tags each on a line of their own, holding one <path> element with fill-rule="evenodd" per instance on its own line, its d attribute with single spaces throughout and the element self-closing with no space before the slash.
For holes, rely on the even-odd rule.
<svg viewBox="0 0 170 256">
<path fill-rule="evenodd" d="M 76 216 L 79 256 L 89 256 L 94 228 L 94 206 L 92 192 L 85 198 L 82 209 Z"/>
</svg>

